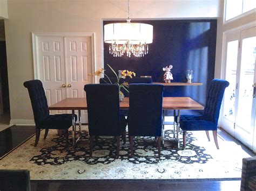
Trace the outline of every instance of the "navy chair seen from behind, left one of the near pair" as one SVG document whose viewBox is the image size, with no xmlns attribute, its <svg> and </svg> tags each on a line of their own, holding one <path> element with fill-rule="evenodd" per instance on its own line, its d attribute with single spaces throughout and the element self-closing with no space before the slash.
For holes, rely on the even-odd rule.
<svg viewBox="0 0 256 191">
<path fill-rule="evenodd" d="M 120 117 L 119 88 L 117 84 L 86 84 L 90 157 L 93 136 L 115 136 L 119 156 L 120 135 L 125 133 L 126 119 Z"/>
</svg>

